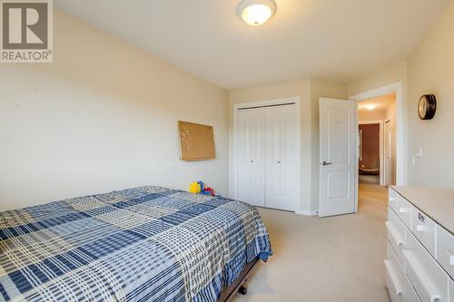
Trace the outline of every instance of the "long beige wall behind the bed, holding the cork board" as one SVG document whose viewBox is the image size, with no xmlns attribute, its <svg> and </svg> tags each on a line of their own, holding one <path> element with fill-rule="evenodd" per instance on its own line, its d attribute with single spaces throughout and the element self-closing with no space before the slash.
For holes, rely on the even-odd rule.
<svg viewBox="0 0 454 302">
<path fill-rule="evenodd" d="M 137 185 L 228 193 L 227 93 L 56 10 L 54 63 L 0 66 L 0 210 Z M 178 120 L 217 157 L 179 160 Z"/>
</svg>

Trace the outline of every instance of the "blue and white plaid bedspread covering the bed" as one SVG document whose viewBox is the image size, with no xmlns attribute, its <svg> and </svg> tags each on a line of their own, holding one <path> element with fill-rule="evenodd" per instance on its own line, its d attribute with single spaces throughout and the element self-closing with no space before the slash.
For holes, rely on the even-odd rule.
<svg viewBox="0 0 454 302">
<path fill-rule="evenodd" d="M 215 301 L 271 255 L 257 209 L 139 187 L 0 212 L 0 301 Z"/>
</svg>

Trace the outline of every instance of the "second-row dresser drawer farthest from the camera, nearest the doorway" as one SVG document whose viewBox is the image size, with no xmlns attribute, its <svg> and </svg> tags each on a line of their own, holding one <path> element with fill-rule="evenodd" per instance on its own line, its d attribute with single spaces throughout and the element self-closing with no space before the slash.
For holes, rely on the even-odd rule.
<svg viewBox="0 0 454 302">
<path fill-rule="evenodd" d="M 406 227 L 390 207 L 388 207 L 388 221 L 385 224 L 388 230 L 388 240 L 399 258 L 400 265 L 405 269 L 405 258 L 403 257 L 402 249 L 405 248 Z"/>
</svg>

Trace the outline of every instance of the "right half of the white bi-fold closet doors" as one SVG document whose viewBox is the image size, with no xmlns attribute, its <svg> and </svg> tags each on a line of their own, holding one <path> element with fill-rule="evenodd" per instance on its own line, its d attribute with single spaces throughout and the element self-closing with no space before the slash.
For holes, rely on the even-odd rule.
<svg viewBox="0 0 454 302">
<path fill-rule="evenodd" d="M 265 108 L 265 207 L 295 210 L 295 104 Z"/>
</svg>

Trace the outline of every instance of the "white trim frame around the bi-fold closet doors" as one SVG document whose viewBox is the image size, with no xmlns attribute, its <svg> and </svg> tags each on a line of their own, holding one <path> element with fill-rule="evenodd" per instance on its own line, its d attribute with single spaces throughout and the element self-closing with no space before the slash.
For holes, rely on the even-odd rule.
<svg viewBox="0 0 454 302">
<path fill-rule="evenodd" d="M 289 97 L 289 98 L 281 98 L 281 99 L 274 99 L 274 100 L 267 100 L 267 101 L 259 101 L 259 102 L 242 102 L 242 103 L 235 103 L 233 104 L 233 158 L 232 158 L 232 199 L 238 199 L 238 110 L 246 109 L 246 108 L 254 108 L 254 107 L 265 107 L 265 106 L 272 106 L 272 105 L 283 105 L 286 103 L 295 103 L 296 110 L 295 110 L 295 136 L 296 136 L 296 204 L 294 205 L 293 210 L 297 211 L 300 209 L 300 187 L 301 187 L 301 98 L 299 96 Z"/>
</svg>

